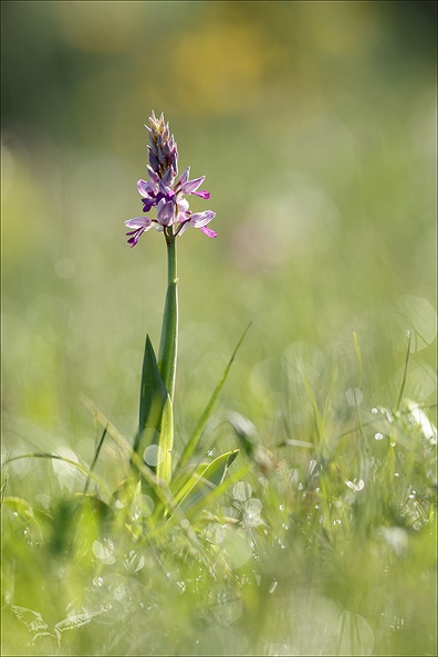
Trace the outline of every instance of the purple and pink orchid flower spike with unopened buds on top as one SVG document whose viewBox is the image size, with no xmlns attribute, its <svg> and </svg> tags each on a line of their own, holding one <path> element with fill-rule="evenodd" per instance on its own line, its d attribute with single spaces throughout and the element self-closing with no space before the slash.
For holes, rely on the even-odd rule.
<svg viewBox="0 0 438 657">
<path fill-rule="evenodd" d="M 217 237 L 217 233 L 207 228 L 207 225 L 215 218 L 215 212 L 191 212 L 186 195 L 198 196 L 209 199 L 210 194 L 199 189 L 206 179 L 205 176 L 189 180 L 190 167 L 176 178 L 178 173 L 178 150 L 174 136 L 169 137 L 169 124 L 165 123 L 164 114 L 159 119 L 154 112 L 149 118 L 149 125 L 145 126 L 149 132 L 150 145 L 149 164 L 147 171 L 149 180 L 138 180 L 137 189 L 142 197 L 143 211 L 149 212 L 156 208 L 156 219 L 149 217 L 136 217 L 125 221 L 125 226 L 133 230 L 126 234 L 129 237 L 128 244 L 135 247 L 144 232 L 154 225 L 157 230 L 166 231 L 167 227 L 176 225 L 175 237 L 182 234 L 189 227 L 199 228 L 207 237 Z"/>
</svg>

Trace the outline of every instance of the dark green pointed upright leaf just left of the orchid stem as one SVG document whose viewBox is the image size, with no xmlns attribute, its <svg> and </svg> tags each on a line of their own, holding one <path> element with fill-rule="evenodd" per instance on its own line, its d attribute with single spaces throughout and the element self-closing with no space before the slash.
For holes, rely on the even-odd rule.
<svg viewBox="0 0 438 657">
<path fill-rule="evenodd" d="M 159 432 L 161 425 L 163 409 L 167 399 L 167 389 L 159 373 L 154 348 L 149 336 L 146 335 L 145 353 L 143 357 L 140 404 L 138 434 L 134 441 L 134 451 L 143 453 L 147 447 L 144 440 L 145 430 L 148 431 L 148 442 L 158 442 L 158 439 L 152 439 L 154 431 Z"/>
</svg>

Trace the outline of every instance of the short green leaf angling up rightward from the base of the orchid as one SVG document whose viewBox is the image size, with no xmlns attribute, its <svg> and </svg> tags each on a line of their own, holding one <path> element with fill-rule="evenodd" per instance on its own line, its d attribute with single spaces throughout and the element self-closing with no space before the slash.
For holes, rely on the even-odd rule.
<svg viewBox="0 0 438 657">
<path fill-rule="evenodd" d="M 201 463 L 191 477 L 175 494 L 178 507 L 187 513 L 201 501 L 206 501 L 210 493 L 222 482 L 227 468 L 231 466 L 239 453 L 239 449 L 227 451 L 217 457 L 211 463 Z"/>
</svg>

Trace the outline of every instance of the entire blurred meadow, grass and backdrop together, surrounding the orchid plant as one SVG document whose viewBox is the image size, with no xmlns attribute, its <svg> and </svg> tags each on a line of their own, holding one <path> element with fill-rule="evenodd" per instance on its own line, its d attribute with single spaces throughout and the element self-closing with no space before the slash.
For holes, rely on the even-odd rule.
<svg viewBox="0 0 438 657">
<path fill-rule="evenodd" d="M 75 522 L 63 461 L 4 468 L 3 654 L 435 654 L 435 13 L 2 3 L 4 458 L 90 466 L 82 396 L 134 435 L 166 290 L 161 236 L 123 223 L 152 108 L 219 233 L 178 244 L 177 451 L 253 321 L 204 442 L 248 473 L 209 520 L 134 541 Z M 96 474 L 125 469 L 106 440 Z M 11 605 L 52 634 L 101 614 L 29 645 Z"/>
</svg>

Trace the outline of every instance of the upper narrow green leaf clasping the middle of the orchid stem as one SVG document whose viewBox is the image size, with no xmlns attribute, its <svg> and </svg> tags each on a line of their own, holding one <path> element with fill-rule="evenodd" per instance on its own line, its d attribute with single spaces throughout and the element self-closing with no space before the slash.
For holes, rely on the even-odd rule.
<svg viewBox="0 0 438 657">
<path fill-rule="evenodd" d="M 158 352 L 158 369 L 170 400 L 175 395 L 175 377 L 178 352 L 178 291 L 177 280 L 170 281 L 163 315 L 161 337 Z"/>
</svg>

